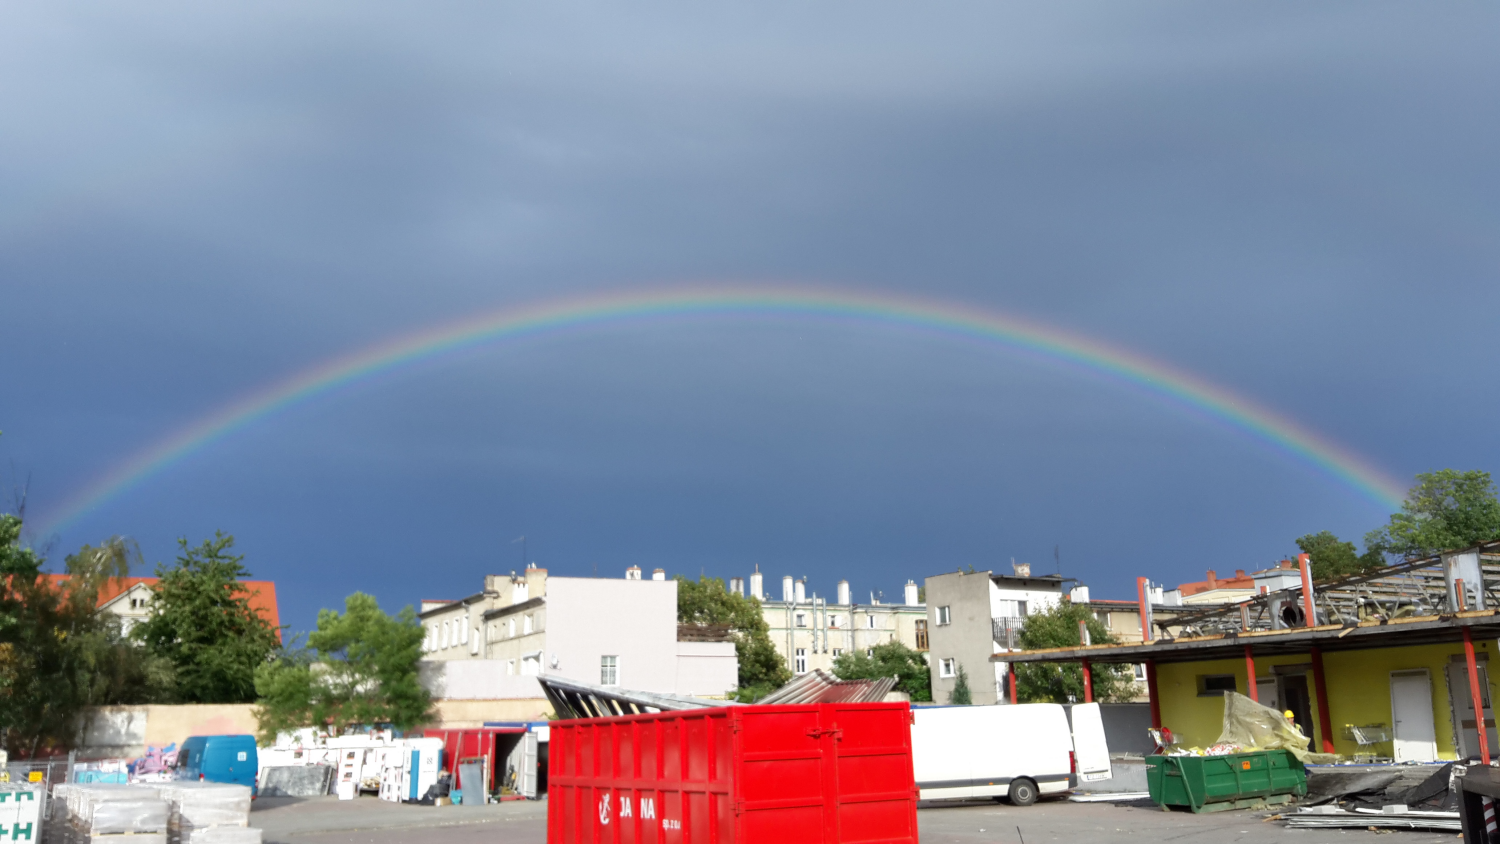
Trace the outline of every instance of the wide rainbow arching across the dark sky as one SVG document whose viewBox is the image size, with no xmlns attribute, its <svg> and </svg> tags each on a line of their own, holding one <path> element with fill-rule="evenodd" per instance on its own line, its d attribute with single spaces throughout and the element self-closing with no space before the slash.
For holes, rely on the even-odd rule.
<svg viewBox="0 0 1500 844">
<path fill-rule="evenodd" d="M 327 360 L 236 399 L 112 466 L 44 517 L 44 535 L 63 529 L 194 453 L 340 387 L 501 340 L 640 319 L 706 316 L 812 316 L 884 324 L 1029 352 L 1144 388 L 1179 408 L 1206 414 L 1384 508 L 1395 510 L 1402 501 L 1402 484 L 1395 478 L 1284 415 L 1166 363 L 1036 321 L 885 294 L 808 288 L 676 288 L 506 307 Z"/>
</svg>

